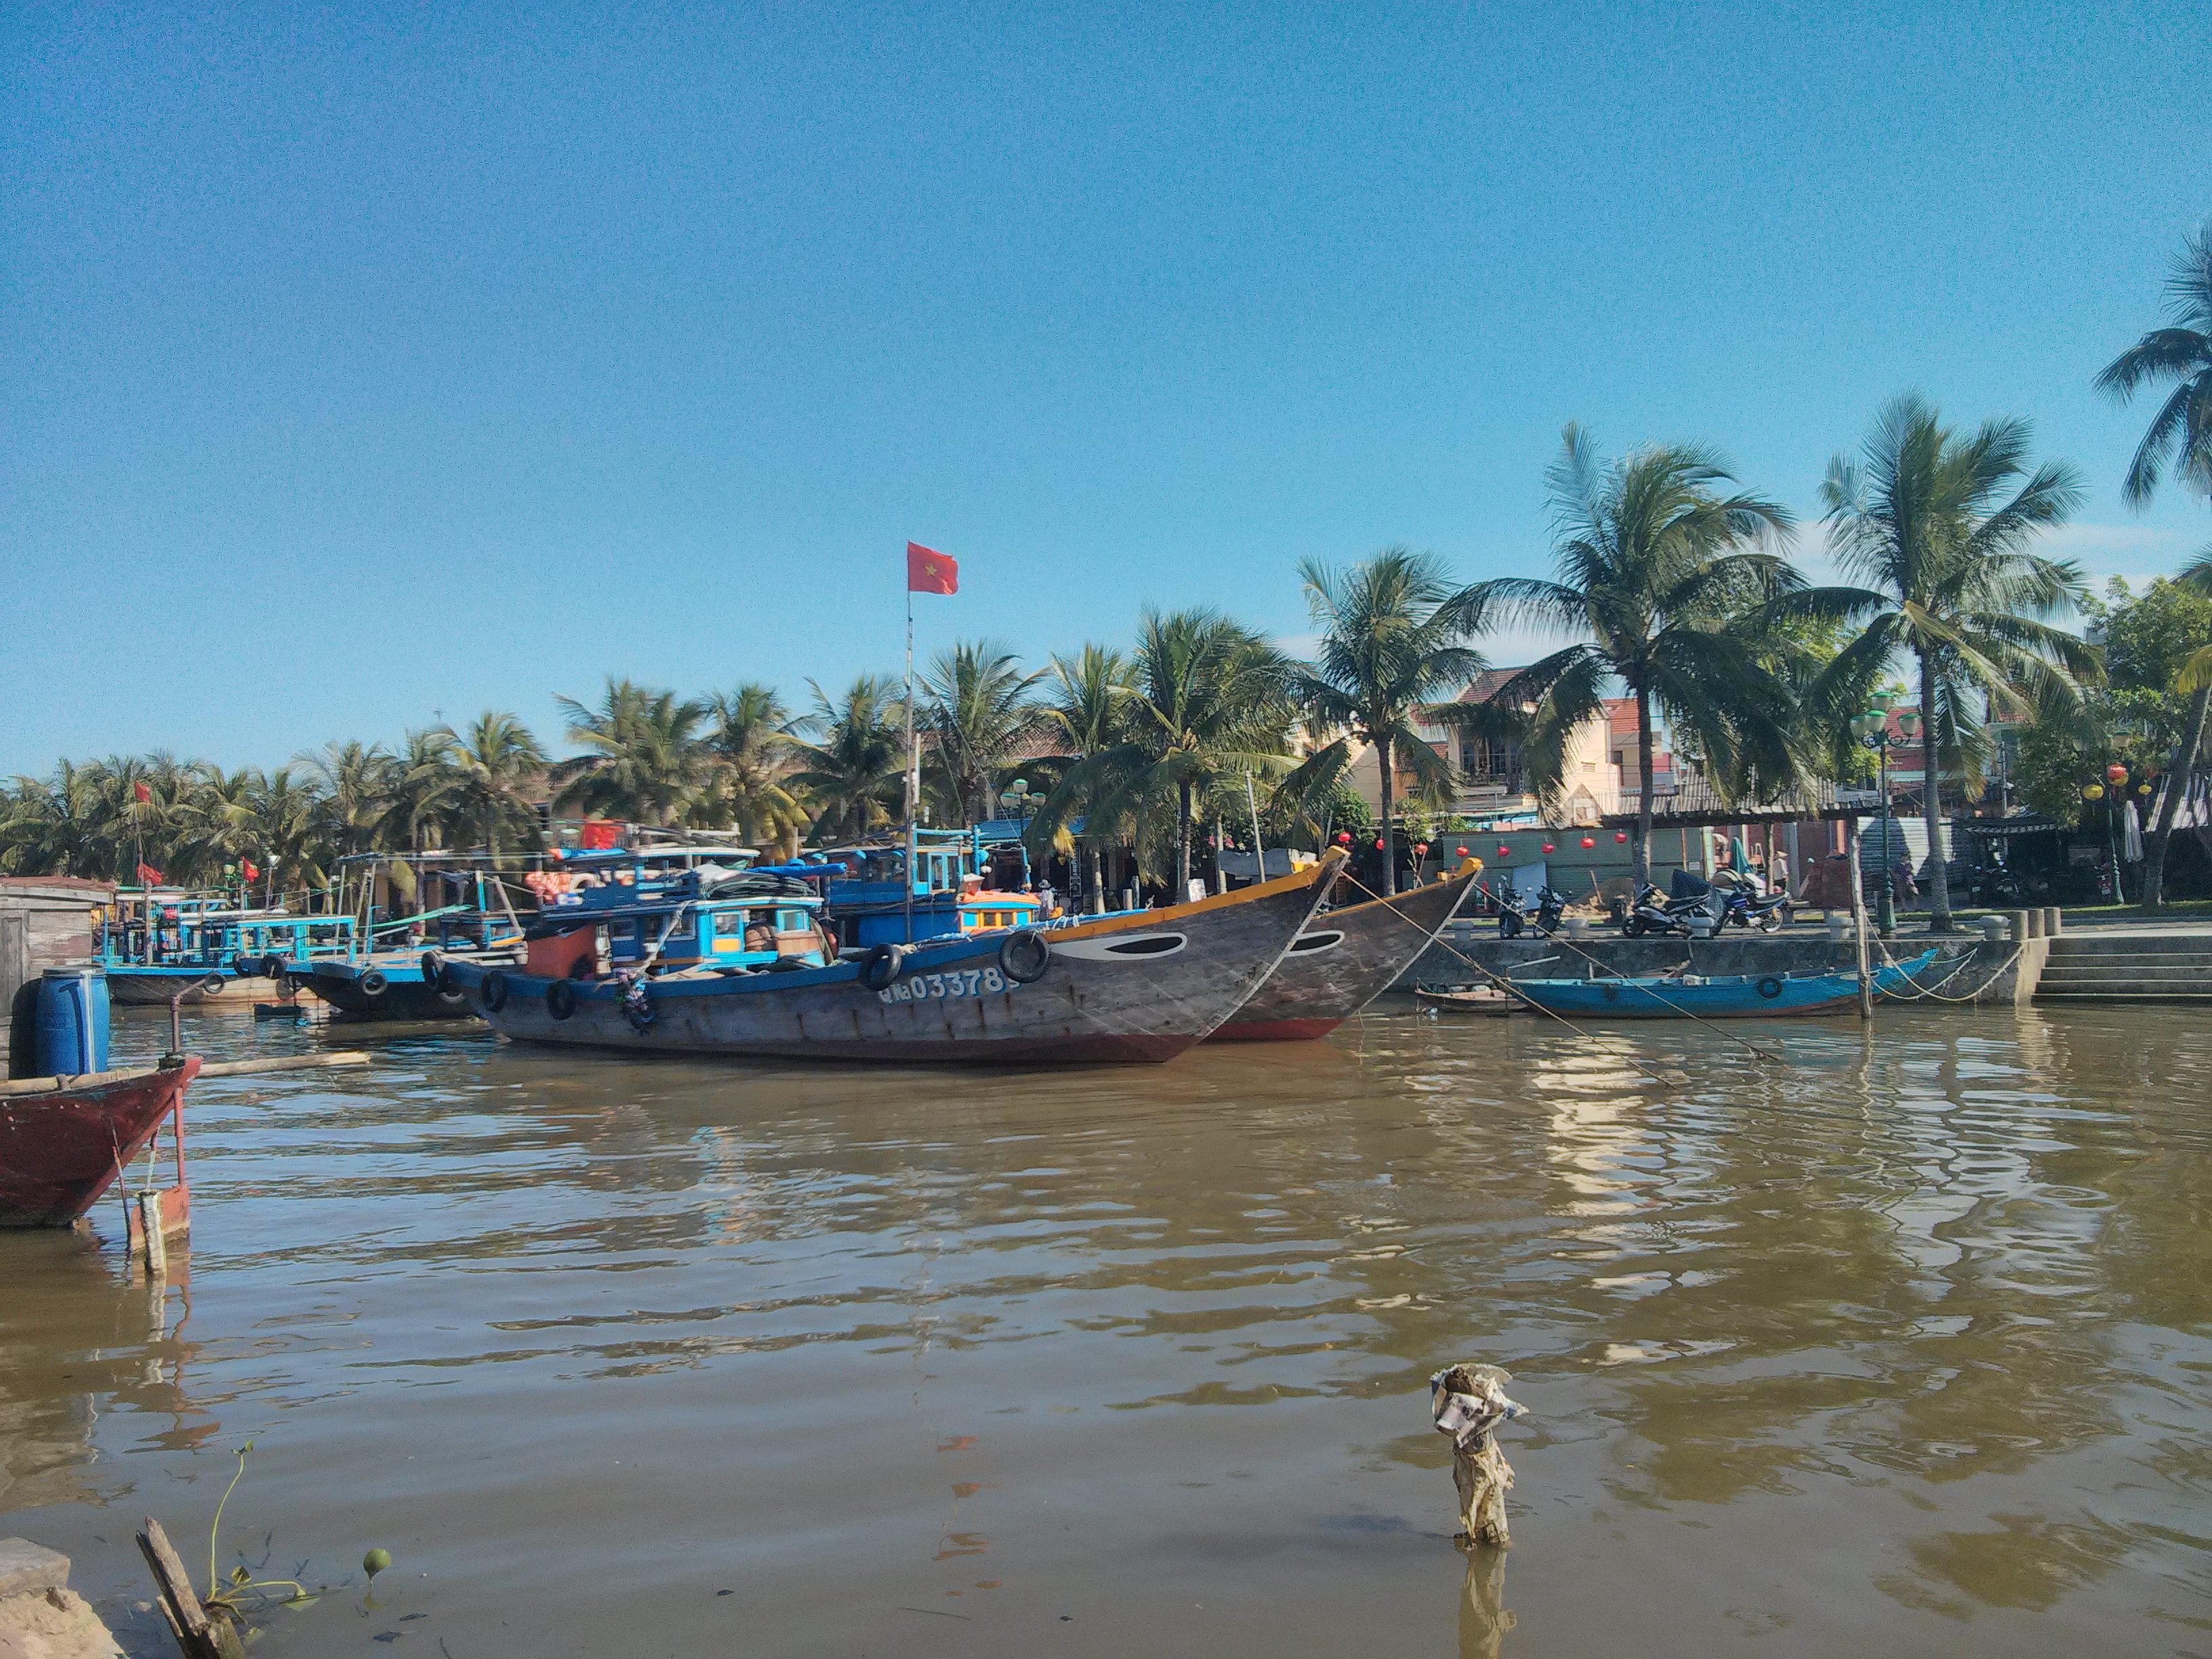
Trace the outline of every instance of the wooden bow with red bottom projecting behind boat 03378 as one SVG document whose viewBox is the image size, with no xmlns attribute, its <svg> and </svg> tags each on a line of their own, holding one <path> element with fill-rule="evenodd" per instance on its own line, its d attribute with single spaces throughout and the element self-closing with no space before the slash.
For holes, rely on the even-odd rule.
<svg viewBox="0 0 2212 1659">
<path fill-rule="evenodd" d="M 1396 898 L 1371 898 L 1314 916 L 1281 967 L 1208 1042 L 1305 1042 L 1325 1037 L 1389 991 L 1444 931 L 1475 869 Z"/>
</svg>

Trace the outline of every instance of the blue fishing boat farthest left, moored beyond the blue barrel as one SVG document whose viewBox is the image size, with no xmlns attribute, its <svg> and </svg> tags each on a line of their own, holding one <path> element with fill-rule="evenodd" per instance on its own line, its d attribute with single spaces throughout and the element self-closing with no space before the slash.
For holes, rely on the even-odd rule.
<svg viewBox="0 0 2212 1659">
<path fill-rule="evenodd" d="M 281 989 L 292 962 L 356 956 L 352 916 L 241 907 L 223 894 L 124 887 L 100 907 L 93 964 L 119 1004 L 237 1004 Z"/>
</svg>

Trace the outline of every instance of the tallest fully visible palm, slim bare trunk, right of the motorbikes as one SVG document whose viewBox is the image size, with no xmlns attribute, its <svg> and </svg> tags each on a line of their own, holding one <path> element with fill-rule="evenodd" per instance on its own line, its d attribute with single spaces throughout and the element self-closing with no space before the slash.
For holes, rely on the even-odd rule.
<svg viewBox="0 0 2212 1659">
<path fill-rule="evenodd" d="M 2081 602 L 2081 573 L 2028 551 L 2079 498 L 2070 467 L 2028 471 L 2024 420 L 1984 420 L 1960 436 L 1918 394 L 1891 400 L 1863 460 L 1836 456 L 1820 484 L 1829 546 L 1863 586 L 1807 588 L 1787 606 L 1865 624 L 1827 666 L 1825 686 L 1858 684 L 1898 655 L 1918 666 L 1931 931 L 1951 929 L 1944 750 L 1973 748 L 1978 701 L 2070 703 L 2081 677 L 2097 675 L 2095 650 L 2051 622 Z"/>
</svg>

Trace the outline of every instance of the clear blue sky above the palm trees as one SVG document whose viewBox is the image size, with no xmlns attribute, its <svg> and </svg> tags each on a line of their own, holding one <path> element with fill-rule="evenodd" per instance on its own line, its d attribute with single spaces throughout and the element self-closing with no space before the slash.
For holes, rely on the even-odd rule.
<svg viewBox="0 0 2212 1659">
<path fill-rule="evenodd" d="M 2212 215 L 2212 7 L 82 7 L 0 20 L 0 772 L 276 763 L 604 675 L 1303 633 L 1694 438 L 1816 515 L 1893 392 L 2031 416 Z M 1502 641 L 1513 655 L 1517 641 Z"/>
</svg>

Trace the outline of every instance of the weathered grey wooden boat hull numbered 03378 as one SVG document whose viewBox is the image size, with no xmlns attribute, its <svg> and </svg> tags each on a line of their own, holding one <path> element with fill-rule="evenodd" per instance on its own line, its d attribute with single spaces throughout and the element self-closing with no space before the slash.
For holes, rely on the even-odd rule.
<svg viewBox="0 0 2212 1659">
<path fill-rule="evenodd" d="M 1274 971 L 1340 863 L 1332 854 L 1192 905 L 1053 931 L 876 945 L 825 967 L 708 962 L 560 980 L 449 960 L 440 980 L 520 1042 L 783 1060 L 1161 1062 L 1228 1020 Z"/>
</svg>

